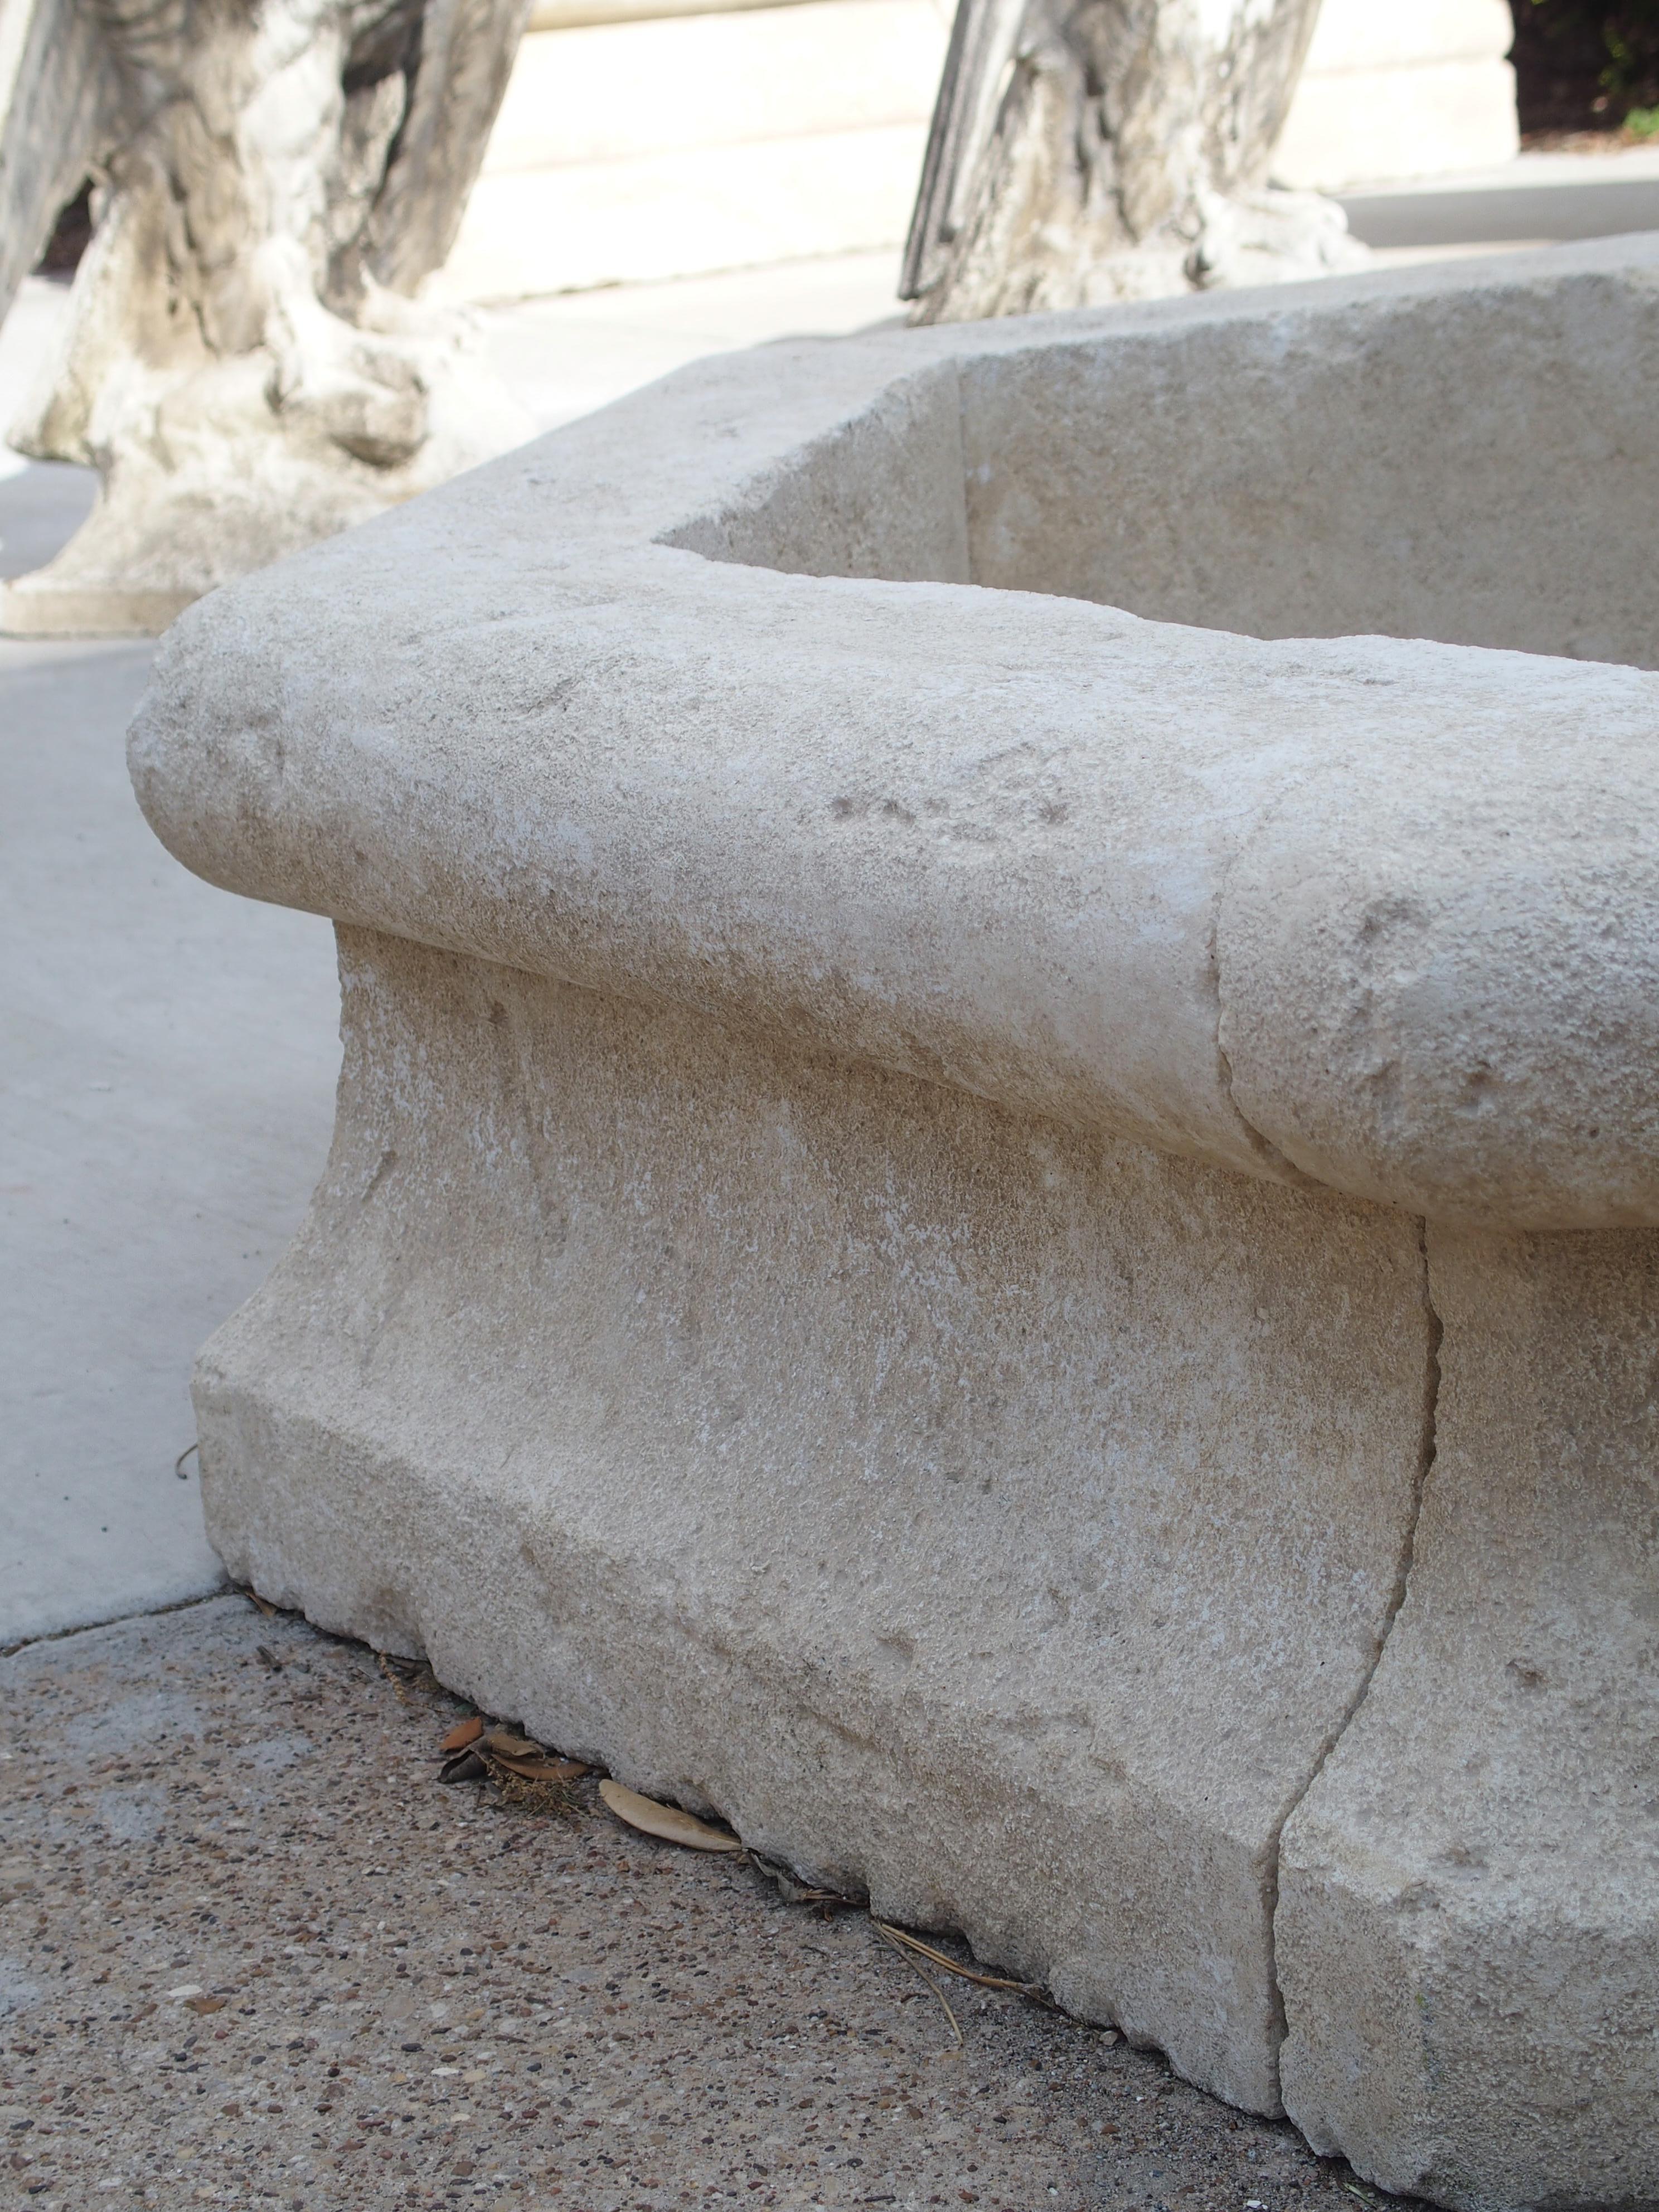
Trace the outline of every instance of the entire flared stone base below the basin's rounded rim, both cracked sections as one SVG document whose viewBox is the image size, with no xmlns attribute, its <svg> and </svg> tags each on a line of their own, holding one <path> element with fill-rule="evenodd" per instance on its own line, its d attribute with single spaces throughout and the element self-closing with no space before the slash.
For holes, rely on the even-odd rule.
<svg viewBox="0 0 1659 2212">
<path fill-rule="evenodd" d="M 327 1181 L 199 1371 L 234 1575 L 1237 2104 L 1279 2108 L 1287 2022 L 1292 2117 L 1391 2188 L 1641 2194 L 1652 1232 L 1425 1252 L 343 956 Z"/>
</svg>

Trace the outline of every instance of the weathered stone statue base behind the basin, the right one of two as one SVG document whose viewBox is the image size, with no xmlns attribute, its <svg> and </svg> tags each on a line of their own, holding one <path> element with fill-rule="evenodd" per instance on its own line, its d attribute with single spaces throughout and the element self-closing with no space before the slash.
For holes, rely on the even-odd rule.
<svg viewBox="0 0 1659 2212">
<path fill-rule="evenodd" d="M 916 323 L 1356 268 L 1267 186 L 1318 0 L 958 0 L 900 294 Z"/>
</svg>

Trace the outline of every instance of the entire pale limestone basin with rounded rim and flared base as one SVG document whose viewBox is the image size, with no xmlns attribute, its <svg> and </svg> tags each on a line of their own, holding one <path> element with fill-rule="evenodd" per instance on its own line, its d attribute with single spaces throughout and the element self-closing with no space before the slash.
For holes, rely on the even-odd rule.
<svg viewBox="0 0 1659 2212">
<path fill-rule="evenodd" d="M 341 925 L 230 1566 L 1471 2212 L 1659 2194 L 1655 270 L 699 365 L 131 752 Z"/>
</svg>

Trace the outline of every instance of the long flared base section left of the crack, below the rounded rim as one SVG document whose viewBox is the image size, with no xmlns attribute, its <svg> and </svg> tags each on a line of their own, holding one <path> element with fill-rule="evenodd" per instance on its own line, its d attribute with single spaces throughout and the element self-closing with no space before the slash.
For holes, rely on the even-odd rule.
<svg viewBox="0 0 1659 2212">
<path fill-rule="evenodd" d="M 230 1573 L 1276 2110 L 1416 1223 L 394 938 L 343 973 L 325 1186 L 197 1378 Z"/>
</svg>

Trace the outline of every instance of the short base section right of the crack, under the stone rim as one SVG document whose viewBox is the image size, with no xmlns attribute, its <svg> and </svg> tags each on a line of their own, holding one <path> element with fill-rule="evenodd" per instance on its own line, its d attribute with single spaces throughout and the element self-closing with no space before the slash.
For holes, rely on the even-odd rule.
<svg viewBox="0 0 1659 2212">
<path fill-rule="evenodd" d="M 1387 2188 L 1641 2203 L 1659 1239 L 1431 1230 L 1429 1283 L 1444 1383 L 1409 1597 L 1285 1832 L 1285 2104 Z"/>
</svg>

